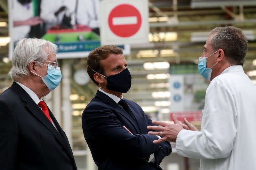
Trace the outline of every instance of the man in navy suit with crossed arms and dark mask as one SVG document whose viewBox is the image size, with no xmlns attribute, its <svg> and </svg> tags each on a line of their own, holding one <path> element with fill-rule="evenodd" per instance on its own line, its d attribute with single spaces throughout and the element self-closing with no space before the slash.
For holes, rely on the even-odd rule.
<svg viewBox="0 0 256 170">
<path fill-rule="evenodd" d="M 169 142 L 153 144 L 151 120 L 135 102 L 123 99 L 131 87 L 123 51 L 113 45 L 93 50 L 87 72 L 99 86 L 82 115 L 84 138 L 99 170 L 155 170 L 172 152 Z"/>
</svg>

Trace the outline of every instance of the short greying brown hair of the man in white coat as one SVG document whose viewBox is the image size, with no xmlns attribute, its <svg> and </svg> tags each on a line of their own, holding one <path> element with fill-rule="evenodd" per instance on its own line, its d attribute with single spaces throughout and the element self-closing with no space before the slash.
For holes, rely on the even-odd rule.
<svg viewBox="0 0 256 170">
<path fill-rule="evenodd" d="M 244 65 L 248 41 L 243 31 L 234 26 L 216 27 L 210 33 L 212 53 L 223 49 L 229 63 Z"/>
</svg>

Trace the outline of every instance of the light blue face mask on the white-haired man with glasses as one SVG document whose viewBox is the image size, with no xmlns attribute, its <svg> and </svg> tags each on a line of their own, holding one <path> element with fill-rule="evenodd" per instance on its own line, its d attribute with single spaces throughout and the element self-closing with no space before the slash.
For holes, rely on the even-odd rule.
<svg viewBox="0 0 256 170">
<path fill-rule="evenodd" d="M 39 63 L 39 62 L 36 62 Z M 43 63 L 40 63 L 43 64 Z M 45 65 L 45 64 L 43 64 Z M 46 65 L 48 66 L 47 69 L 47 74 L 45 77 L 41 77 L 38 74 L 36 74 L 35 72 L 31 71 L 32 73 L 36 74 L 37 76 L 41 77 L 44 84 L 48 87 L 48 89 L 50 91 L 52 91 L 53 89 L 55 89 L 59 84 L 60 84 L 60 80 L 61 80 L 61 71 L 60 71 L 60 67 L 56 67 L 56 69 L 51 65 L 48 64 Z"/>
</svg>

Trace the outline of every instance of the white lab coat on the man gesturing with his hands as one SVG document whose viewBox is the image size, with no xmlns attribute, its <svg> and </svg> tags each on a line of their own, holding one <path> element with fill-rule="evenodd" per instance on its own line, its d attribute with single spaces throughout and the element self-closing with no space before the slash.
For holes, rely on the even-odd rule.
<svg viewBox="0 0 256 170">
<path fill-rule="evenodd" d="M 181 130 L 177 153 L 201 159 L 200 170 L 256 169 L 255 94 L 241 65 L 224 70 L 206 90 L 201 132 Z"/>
</svg>

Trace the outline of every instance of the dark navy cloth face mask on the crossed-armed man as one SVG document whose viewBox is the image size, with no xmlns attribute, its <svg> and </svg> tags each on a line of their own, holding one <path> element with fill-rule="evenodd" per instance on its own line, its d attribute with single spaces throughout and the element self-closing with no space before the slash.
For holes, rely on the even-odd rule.
<svg viewBox="0 0 256 170">
<path fill-rule="evenodd" d="M 92 70 L 94 71 L 94 70 Z M 94 71 L 95 73 L 98 73 Z M 98 73 L 100 74 L 100 73 Z M 112 75 L 112 76 L 104 76 L 100 74 L 101 76 L 107 78 L 108 84 L 107 87 L 100 87 L 102 89 L 108 89 L 113 90 L 116 92 L 123 92 L 126 93 L 130 90 L 132 85 L 132 76 L 130 74 L 130 71 L 126 68 L 123 71 L 121 71 L 118 74 Z"/>
</svg>

